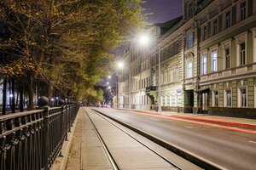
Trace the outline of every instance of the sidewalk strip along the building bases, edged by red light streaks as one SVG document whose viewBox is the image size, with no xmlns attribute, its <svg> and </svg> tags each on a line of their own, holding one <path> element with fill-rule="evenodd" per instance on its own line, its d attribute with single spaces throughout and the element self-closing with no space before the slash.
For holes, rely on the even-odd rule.
<svg viewBox="0 0 256 170">
<path fill-rule="evenodd" d="M 146 111 L 146 110 L 132 110 L 132 109 L 120 109 L 125 111 L 136 111 L 146 114 L 154 114 L 161 116 L 172 116 L 180 119 L 193 120 L 197 122 L 212 122 L 223 124 L 232 127 L 245 127 L 256 130 L 256 120 L 238 117 L 228 117 L 228 116 L 210 116 L 207 114 L 192 114 L 192 113 L 177 113 L 169 111 Z"/>
</svg>

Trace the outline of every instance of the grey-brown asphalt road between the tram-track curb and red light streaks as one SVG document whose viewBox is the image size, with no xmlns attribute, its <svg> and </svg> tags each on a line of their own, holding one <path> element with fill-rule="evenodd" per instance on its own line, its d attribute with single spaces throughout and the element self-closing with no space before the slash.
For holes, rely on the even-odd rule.
<svg viewBox="0 0 256 170">
<path fill-rule="evenodd" d="M 164 117 L 97 108 L 108 116 L 153 134 L 198 156 L 234 170 L 256 169 L 256 136 Z"/>
</svg>

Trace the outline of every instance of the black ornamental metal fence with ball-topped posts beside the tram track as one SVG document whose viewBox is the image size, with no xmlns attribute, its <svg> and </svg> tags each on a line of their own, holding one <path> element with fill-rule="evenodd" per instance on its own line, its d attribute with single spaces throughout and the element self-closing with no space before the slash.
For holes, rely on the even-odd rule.
<svg viewBox="0 0 256 170">
<path fill-rule="evenodd" d="M 73 104 L 0 116 L 0 169 L 49 169 L 78 111 Z"/>
</svg>

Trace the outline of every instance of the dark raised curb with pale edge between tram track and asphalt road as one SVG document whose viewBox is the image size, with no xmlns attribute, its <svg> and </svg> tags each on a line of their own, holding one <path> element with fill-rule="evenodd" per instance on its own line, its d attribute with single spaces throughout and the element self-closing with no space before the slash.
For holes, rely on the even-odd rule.
<svg viewBox="0 0 256 170">
<path fill-rule="evenodd" d="M 95 109 L 92 109 L 93 111 L 96 111 Z M 131 125 L 125 123 L 125 122 L 120 122 L 117 119 L 114 119 L 111 116 L 108 116 L 100 111 L 96 111 L 104 116 L 107 116 L 109 119 L 113 120 L 114 122 L 118 122 L 119 124 L 121 124 L 124 127 L 127 127 L 129 129 L 131 129 L 132 131 L 139 133 L 140 135 L 142 135 L 143 137 L 153 141 L 156 144 L 160 144 L 160 146 L 165 147 L 167 150 L 172 151 L 173 153 L 177 154 L 178 156 L 182 156 L 183 158 L 187 159 L 188 161 L 195 163 L 195 165 L 202 167 L 204 169 L 212 169 L 212 170 L 227 170 L 225 167 L 221 167 L 218 164 L 209 161 L 201 156 L 197 156 L 194 153 L 188 151 L 188 150 L 184 150 L 182 148 L 180 148 L 179 146 L 175 145 L 175 144 L 170 144 L 169 142 L 163 140 L 163 139 L 159 139 L 158 137 L 155 137 L 154 135 L 151 135 L 149 133 L 144 132 L 141 129 L 137 129 L 136 127 L 132 127 Z"/>
</svg>

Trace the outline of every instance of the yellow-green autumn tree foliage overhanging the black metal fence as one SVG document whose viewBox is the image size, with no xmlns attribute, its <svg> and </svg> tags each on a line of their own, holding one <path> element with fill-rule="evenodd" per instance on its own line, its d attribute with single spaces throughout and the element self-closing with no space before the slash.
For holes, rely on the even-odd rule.
<svg viewBox="0 0 256 170">
<path fill-rule="evenodd" d="M 32 98 L 84 99 L 110 71 L 111 48 L 142 26 L 141 0 L 2 0 L 0 77 Z"/>
</svg>

